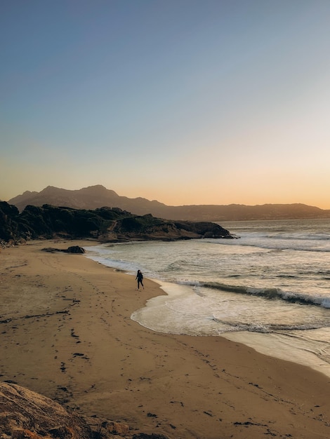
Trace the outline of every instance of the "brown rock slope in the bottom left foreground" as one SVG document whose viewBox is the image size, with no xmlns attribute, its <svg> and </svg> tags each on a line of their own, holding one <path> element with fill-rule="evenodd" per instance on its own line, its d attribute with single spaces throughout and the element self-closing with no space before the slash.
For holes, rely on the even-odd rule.
<svg viewBox="0 0 330 439">
<path fill-rule="evenodd" d="M 1 439 L 168 439 L 133 434 L 127 424 L 81 417 L 17 384 L 0 383 Z"/>
</svg>

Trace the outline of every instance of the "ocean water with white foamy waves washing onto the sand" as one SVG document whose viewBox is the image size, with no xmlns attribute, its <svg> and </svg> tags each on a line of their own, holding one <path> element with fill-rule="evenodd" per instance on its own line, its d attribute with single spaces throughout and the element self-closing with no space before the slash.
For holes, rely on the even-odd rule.
<svg viewBox="0 0 330 439">
<path fill-rule="evenodd" d="M 131 318 L 151 330 L 222 336 L 330 377 L 330 219 L 219 222 L 237 239 L 108 243 L 86 256 L 157 281 Z"/>
</svg>

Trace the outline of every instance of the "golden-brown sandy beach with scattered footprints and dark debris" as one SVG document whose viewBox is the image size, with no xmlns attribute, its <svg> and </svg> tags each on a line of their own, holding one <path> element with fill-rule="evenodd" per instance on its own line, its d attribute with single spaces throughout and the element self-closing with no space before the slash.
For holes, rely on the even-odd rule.
<svg viewBox="0 0 330 439">
<path fill-rule="evenodd" d="M 164 294 L 84 255 L 89 241 L 0 252 L 0 379 L 79 414 L 171 439 L 330 437 L 330 379 L 223 337 L 164 335 L 131 320 Z"/>
</svg>

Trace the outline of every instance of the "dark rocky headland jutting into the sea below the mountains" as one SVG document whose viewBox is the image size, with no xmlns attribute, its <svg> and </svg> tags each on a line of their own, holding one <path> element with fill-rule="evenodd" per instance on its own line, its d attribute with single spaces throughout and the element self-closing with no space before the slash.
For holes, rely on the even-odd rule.
<svg viewBox="0 0 330 439">
<path fill-rule="evenodd" d="M 28 239 L 86 239 L 103 242 L 230 238 L 229 231 L 212 222 L 171 221 L 152 215 L 133 215 L 119 208 L 78 210 L 67 207 L 0 205 L 0 241 Z M 68 250 L 79 252 L 79 249 Z"/>
</svg>

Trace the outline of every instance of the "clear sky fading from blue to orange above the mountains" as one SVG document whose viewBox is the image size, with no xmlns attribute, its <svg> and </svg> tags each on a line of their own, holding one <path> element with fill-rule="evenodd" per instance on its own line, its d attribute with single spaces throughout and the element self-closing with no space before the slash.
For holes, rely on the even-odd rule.
<svg viewBox="0 0 330 439">
<path fill-rule="evenodd" d="M 0 200 L 330 209 L 329 0 L 2 0 Z"/>
</svg>

